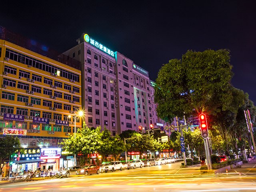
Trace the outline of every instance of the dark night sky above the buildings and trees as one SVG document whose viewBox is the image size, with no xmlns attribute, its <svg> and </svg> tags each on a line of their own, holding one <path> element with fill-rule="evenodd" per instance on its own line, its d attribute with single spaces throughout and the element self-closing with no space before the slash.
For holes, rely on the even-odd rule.
<svg viewBox="0 0 256 192">
<path fill-rule="evenodd" d="M 256 104 L 254 1 L 3 1 L 0 26 L 58 52 L 87 33 L 148 70 L 152 80 L 187 50 L 226 48 L 233 86 Z"/>
</svg>

